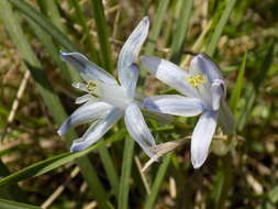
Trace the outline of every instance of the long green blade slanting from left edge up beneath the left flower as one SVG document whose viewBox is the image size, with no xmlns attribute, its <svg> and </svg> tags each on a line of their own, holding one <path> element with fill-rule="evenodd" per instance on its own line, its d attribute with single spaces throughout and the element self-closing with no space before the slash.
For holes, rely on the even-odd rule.
<svg viewBox="0 0 278 209">
<path fill-rule="evenodd" d="M 110 139 L 108 139 L 105 141 L 101 141 L 101 142 L 99 142 L 99 143 L 97 143 L 84 151 L 75 152 L 75 153 L 63 153 L 63 154 L 56 155 L 54 157 L 34 163 L 33 165 L 31 165 L 29 167 L 25 167 L 25 168 L 23 168 L 19 172 L 15 172 L 4 178 L 1 178 L 0 186 L 2 187 L 4 185 L 15 184 L 18 182 L 25 180 L 31 177 L 36 177 L 36 176 L 43 175 L 43 174 L 51 172 L 59 166 L 63 166 L 69 162 L 73 162 L 76 158 L 80 158 L 80 157 L 87 155 L 88 153 L 100 148 L 101 146 L 104 146 L 109 143 L 122 140 L 125 134 L 126 134 L 126 132 L 124 130 L 121 130 L 115 135 L 111 136 Z"/>
</svg>

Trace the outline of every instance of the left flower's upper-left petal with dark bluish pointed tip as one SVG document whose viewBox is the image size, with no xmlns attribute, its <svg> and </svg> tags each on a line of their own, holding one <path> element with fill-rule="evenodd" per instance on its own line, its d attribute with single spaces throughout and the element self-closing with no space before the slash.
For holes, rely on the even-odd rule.
<svg viewBox="0 0 278 209">
<path fill-rule="evenodd" d="M 98 80 L 105 84 L 116 85 L 116 80 L 98 65 L 91 63 L 80 53 L 60 51 L 60 58 L 75 67 L 85 80 Z"/>
</svg>

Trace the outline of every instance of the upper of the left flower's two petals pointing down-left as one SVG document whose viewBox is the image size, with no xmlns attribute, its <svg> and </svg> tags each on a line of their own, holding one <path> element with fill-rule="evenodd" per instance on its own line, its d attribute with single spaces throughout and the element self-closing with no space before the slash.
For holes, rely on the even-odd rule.
<svg viewBox="0 0 278 209">
<path fill-rule="evenodd" d="M 111 108 L 110 105 L 102 101 L 87 102 L 64 121 L 57 133 L 64 135 L 71 127 L 103 118 Z"/>
</svg>

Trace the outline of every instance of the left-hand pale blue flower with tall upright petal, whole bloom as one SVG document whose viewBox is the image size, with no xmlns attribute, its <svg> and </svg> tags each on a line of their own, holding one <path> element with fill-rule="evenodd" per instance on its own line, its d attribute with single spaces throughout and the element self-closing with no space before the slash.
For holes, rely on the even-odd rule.
<svg viewBox="0 0 278 209">
<path fill-rule="evenodd" d="M 77 82 L 73 86 L 87 94 L 77 98 L 76 103 L 85 105 L 60 125 L 58 134 L 65 134 L 71 127 L 93 121 L 86 133 L 74 141 L 71 152 L 87 148 L 124 117 L 130 135 L 149 157 L 155 154 L 149 150 L 155 145 L 155 140 L 141 112 L 142 105 L 135 100 L 138 68 L 134 63 L 137 62 L 136 58 L 146 40 L 148 28 L 148 19 L 144 18 L 125 42 L 118 62 L 120 85 L 113 76 L 88 61 L 82 54 L 60 52 L 62 59 L 74 66 L 87 82 Z"/>
</svg>

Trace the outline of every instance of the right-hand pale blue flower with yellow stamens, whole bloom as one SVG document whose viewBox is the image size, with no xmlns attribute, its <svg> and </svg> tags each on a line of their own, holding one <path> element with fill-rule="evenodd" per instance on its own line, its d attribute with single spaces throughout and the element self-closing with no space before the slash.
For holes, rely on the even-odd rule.
<svg viewBox="0 0 278 209">
<path fill-rule="evenodd" d="M 189 70 L 153 56 L 142 56 L 142 65 L 156 78 L 178 90 L 178 95 L 154 96 L 144 101 L 144 107 L 167 114 L 201 117 L 191 139 L 191 162 L 199 168 L 208 157 L 210 143 L 218 119 L 225 132 L 233 132 L 233 116 L 225 96 L 226 87 L 219 67 L 205 55 L 198 54 Z"/>
</svg>

